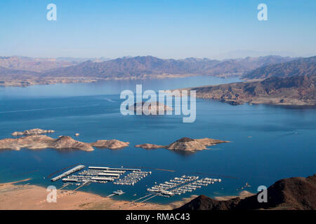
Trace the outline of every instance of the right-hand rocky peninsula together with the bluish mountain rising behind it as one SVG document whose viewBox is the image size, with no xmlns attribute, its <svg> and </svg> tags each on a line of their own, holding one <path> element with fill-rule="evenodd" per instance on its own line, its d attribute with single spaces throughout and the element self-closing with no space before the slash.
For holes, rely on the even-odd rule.
<svg viewBox="0 0 316 224">
<path fill-rule="evenodd" d="M 203 99 L 214 99 L 232 105 L 275 104 L 316 105 L 316 56 L 290 62 L 270 64 L 242 76 L 248 81 L 191 87 Z"/>
</svg>

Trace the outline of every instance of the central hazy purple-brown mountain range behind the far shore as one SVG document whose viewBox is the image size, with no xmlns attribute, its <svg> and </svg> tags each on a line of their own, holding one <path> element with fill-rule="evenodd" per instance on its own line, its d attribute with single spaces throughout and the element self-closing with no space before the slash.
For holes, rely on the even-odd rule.
<svg viewBox="0 0 316 224">
<path fill-rule="evenodd" d="M 246 71 L 268 64 L 288 62 L 293 58 L 266 56 L 244 59 L 159 59 L 157 57 L 123 57 L 106 62 L 83 62 L 74 66 L 51 69 L 44 76 L 96 78 L 150 78 L 162 74 L 239 76 Z"/>
</svg>

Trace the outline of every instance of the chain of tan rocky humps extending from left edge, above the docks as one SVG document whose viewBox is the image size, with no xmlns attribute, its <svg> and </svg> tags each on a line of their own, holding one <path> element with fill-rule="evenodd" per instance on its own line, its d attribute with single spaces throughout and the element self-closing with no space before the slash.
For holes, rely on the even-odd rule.
<svg viewBox="0 0 316 224">
<path fill-rule="evenodd" d="M 60 136 L 58 139 L 53 139 L 46 135 L 32 134 L 26 137 L 20 137 L 17 139 L 1 139 L 0 150 L 15 150 L 20 151 L 21 148 L 29 148 L 32 150 L 44 149 L 44 148 L 55 148 L 58 150 L 71 150 L 77 149 L 80 151 L 93 151 L 96 147 L 103 148 L 123 148 L 129 146 L 128 142 L 119 140 L 98 140 L 92 144 L 76 141 L 69 136 Z"/>
</svg>

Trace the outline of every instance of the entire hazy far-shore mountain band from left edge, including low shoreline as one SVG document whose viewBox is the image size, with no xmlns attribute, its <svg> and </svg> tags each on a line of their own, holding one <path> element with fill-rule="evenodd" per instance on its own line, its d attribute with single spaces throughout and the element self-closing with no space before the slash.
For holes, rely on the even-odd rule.
<svg viewBox="0 0 316 224">
<path fill-rule="evenodd" d="M 13 62 L 8 67 L 6 60 L 9 59 L 13 59 Z M 70 62 L 69 58 L 64 59 L 65 61 L 61 61 L 60 59 L 44 59 L 44 62 L 37 62 L 37 58 L 0 57 L 0 66 L 3 67 L 0 69 L 0 85 L 28 86 L 53 83 L 96 82 L 98 80 L 177 78 L 185 76 L 217 76 L 225 78 L 241 76 L 251 69 L 256 69 L 266 64 L 287 62 L 294 58 L 270 55 L 218 61 L 216 59 L 200 59 L 195 57 L 160 59 L 148 55 L 120 57 L 102 62 L 95 62 L 91 59 L 85 62 Z M 48 69 L 44 69 L 43 67 L 46 63 L 48 63 Z M 55 66 L 59 67 L 56 68 Z"/>
</svg>

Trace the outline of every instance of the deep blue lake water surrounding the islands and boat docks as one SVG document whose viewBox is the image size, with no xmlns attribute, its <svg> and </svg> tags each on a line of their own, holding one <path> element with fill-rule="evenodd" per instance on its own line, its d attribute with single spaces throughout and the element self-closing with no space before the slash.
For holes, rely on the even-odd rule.
<svg viewBox="0 0 316 224">
<path fill-rule="evenodd" d="M 152 175 L 135 186 L 112 183 L 84 186 L 81 190 L 109 195 L 124 190 L 119 200 L 134 200 L 145 195 L 146 188 L 183 174 L 203 173 L 223 181 L 192 193 L 171 198 L 154 197 L 150 202 L 172 202 L 181 197 L 204 194 L 210 197 L 237 195 L 248 182 L 253 193 L 258 186 L 270 186 L 290 176 L 308 176 L 316 171 L 316 110 L 282 106 L 239 105 L 197 99 L 195 123 L 183 123 L 181 116 L 122 116 L 121 90 L 166 90 L 179 87 L 230 83 L 237 79 L 189 77 L 164 80 L 108 81 L 34 85 L 0 88 L 0 139 L 15 131 L 41 128 L 55 130 L 51 137 L 79 132 L 79 141 L 98 139 L 129 141 L 120 150 L 96 148 L 93 152 L 1 151 L 0 183 L 32 178 L 29 183 L 49 186 L 47 176 L 74 164 L 110 167 L 150 167 Z M 191 155 L 157 149 L 133 147 L 152 143 L 168 145 L 182 137 L 214 138 L 230 143 L 209 147 Z M 175 172 L 160 171 L 171 169 Z M 201 175 L 200 175 L 201 176 Z M 44 179 L 45 178 L 45 179 Z M 61 181 L 53 183 L 62 186 Z M 71 188 L 71 187 L 70 187 Z M 72 187 L 73 188 L 73 187 Z M 134 194 L 137 196 L 133 196 Z"/>
</svg>

